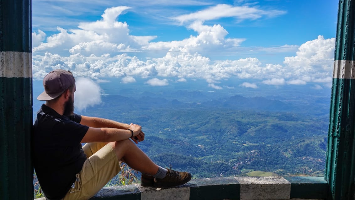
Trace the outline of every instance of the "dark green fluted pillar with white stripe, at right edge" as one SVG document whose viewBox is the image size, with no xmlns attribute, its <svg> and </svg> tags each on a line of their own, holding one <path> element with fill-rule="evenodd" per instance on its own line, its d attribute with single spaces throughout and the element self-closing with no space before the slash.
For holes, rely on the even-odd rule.
<svg viewBox="0 0 355 200">
<path fill-rule="evenodd" d="M 332 199 L 353 199 L 355 178 L 355 2 L 340 0 L 326 180 Z"/>
</svg>

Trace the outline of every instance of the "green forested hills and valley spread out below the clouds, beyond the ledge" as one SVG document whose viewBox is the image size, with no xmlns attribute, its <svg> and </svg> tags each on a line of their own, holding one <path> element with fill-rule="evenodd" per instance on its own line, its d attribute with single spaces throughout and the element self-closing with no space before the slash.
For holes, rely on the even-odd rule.
<svg viewBox="0 0 355 200">
<path fill-rule="evenodd" d="M 138 146 L 159 165 L 171 164 L 194 177 L 245 175 L 252 170 L 279 175 L 324 173 L 326 115 L 311 115 L 294 106 L 287 112 L 272 112 L 164 98 L 138 101 L 108 96 L 103 100 L 82 114 L 142 125 L 146 139 Z M 257 104 L 266 101 L 259 100 Z"/>
</svg>

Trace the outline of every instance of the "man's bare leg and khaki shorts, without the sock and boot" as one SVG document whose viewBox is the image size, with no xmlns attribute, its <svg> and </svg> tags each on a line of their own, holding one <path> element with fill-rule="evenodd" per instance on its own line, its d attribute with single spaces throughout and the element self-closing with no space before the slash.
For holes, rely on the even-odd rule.
<svg viewBox="0 0 355 200">
<path fill-rule="evenodd" d="M 131 140 L 110 142 L 107 145 L 87 143 L 83 150 L 89 158 L 77 174 L 75 187 L 69 190 L 64 200 L 91 198 L 119 173 L 120 160 L 143 173 L 155 174 L 159 168 Z"/>
</svg>

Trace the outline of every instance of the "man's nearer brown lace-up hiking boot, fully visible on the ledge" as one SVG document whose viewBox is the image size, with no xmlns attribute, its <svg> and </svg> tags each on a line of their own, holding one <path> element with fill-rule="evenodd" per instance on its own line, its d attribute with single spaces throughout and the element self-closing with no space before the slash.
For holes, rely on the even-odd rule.
<svg viewBox="0 0 355 200">
<path fill-rule="evenodd" d="M 191 174 L 189 172 L 174 171 L 171 169 L 171 165 L 170 165 L 170 169 L 168 169 L 168 172 L 166 172 L 165 178 L 162 179 L 155 178 L 154 187 L 157 188 L 174 187 L 174 186 L 185 184 L 190 180 L 191 180 Z"/>
</svg>

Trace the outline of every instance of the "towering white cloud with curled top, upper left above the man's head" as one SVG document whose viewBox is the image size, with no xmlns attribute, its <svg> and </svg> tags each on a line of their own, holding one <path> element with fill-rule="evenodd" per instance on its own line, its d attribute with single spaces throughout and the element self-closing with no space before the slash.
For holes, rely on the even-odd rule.
<svg viewBox="0 0 355 200">
<path fill-rule="evenodd" d="M 58 27 L 60 33 L 49 36 L 46 43 L 41 43 L 32 50 L 36 53 L 70 49 L 69 52 L 72 54 L 83 53 L 84 55 L 138 51 L 140 45 L 147 44 L 156 36 L 130 36 L 127 23 L 116 21 L 127 9 L 130 7 L 108 8 L 104 11 L 101 20 L 81 22 L 79 29 L 66 30 Z"/>
</svg>

